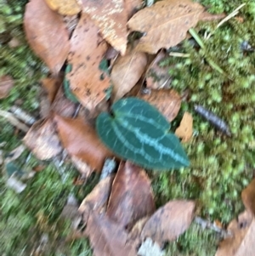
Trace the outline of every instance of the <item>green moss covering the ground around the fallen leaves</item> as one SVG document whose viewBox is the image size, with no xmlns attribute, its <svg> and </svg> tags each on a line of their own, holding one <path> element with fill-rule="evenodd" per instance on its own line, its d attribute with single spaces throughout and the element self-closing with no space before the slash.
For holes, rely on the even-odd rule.
<svg viewBox="0 0 255 256">
<path fill-rule="evenodd" d="M 200 2 L 214 13 L 230 13 L 240 5 L 237 0 Z M 9 74 L 15 80 L 10 96 L 1 100 L 1 108 L 7 109 L 19 99 L 23 109 L 34 112 L 38 107 L 37 81 L 47 68 L 26 45 L 22 32 L 25 3 L 0 3 L 0 33 L 20 41 L 17 48 L 0 43 L 0 75 Z M 241 212 L 241 191 L 251 181 L 255 165 L 255 52 L 241 48 L 244 42 L 251 45 L 255 42 L 255 3 L 247 0 L 244 3 L 246 6 L 239 14 L 243 20 L 232 18 L 218 29 L 218 21 L 200 23 L 195 28 L 202 39 L 205 32 L 212 33 L 208 40 L 203 39 L 204 49 L 187 40 L 177 51 L 190 54 L 189 58 L 172 57 L 163 63 L 174 66 L 170 68 L 173 88 L 179 92 L 187 88 L 190 91 L 190 99 L 182 105 L 179 118 L 184 111 L 190 111 L 194 117 L 194 137 L 184 145 L 191 168 L 149 173 L 158 207 L 174 198 L 193 199 L 197 202 L 196 213 L 212 221 L 218 219 L 224 225 Z M 213 60 L 227 76 L 213 69 L 207 60 Z M 228 122 L 231 137 L 216 131 L 195 114 L 195 104 L 203 105 Z M 178 125 L 178 121 L 173 122 L 174 125 Z M 8 153 L 20 145 L 20 139 L 22 136 L 15 134 L 14 128 L 0 118 L 0 142 L 8 142 L 2 150 Z M 26 162 L 27 154 L 17 162 L 20 168 L 40 163 L 33 157 Z M 44 255 L 92 255 L 85 239 L 64 242 L 70 223 L 59 216 L 70 193 L 82 200 L 92 186 L 74 186 L 72 180 L 77 173 L 72 168 L 68 168 L 63 183 L 51 163 L 43 164 L 46 168 L 30 179 L 26 191 L 19 195 L 5 187 L 6 174 L 0 167 L 0 254 L 31 255 L 42 235 L 48 234 L 49 244 Z M 214 255 L 219 238 L 212 230 L 202 230 L 193 224 L 167 247 L 167 255 Z"/>
</svg>

